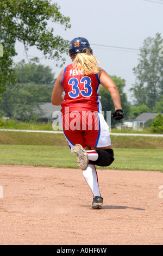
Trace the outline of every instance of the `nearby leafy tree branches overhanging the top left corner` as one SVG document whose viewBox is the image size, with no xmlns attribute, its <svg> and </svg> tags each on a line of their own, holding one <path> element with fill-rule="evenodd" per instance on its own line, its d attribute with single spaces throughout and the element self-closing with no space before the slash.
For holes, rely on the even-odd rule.
<svg viewBox="0 0 163 256">
<path fill-rule="evenodd" d="M 0 57 L 0 96 L 7 84 L 16 83 L 13 69 L 13 57 L 16 56 L 16 41 L 28 47 L 36 46 L 46 58 L 61 60 L 67 52 L 68 40 L 54 35 L 54 27 L 48 28 L 48 21 L 60 23 L 70 28 L 70 17 L 60 13 L 57 3 L 48 0 L 1 0 L 0 2 L 0 43 L 3 45 L 3 57 Z"/>
</svg>

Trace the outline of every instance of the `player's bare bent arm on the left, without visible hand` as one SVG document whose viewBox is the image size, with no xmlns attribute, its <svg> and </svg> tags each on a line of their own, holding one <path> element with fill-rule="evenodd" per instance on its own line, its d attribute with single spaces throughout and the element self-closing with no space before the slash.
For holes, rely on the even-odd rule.
<svg viewBox="0 0 163 256">
<path fill-rule="evenodd" d="M 60 72 L 54 84 L 51 102 L 55 106 L 60 106 L 61 102 L 64 100 L 64 96 L 62 95 L 62 93 L 64 92 L 64 89 L 61 86 L 61 80 L 62 80 L 63 74 L 64 74 L 64 70 Z"/>
</svg>

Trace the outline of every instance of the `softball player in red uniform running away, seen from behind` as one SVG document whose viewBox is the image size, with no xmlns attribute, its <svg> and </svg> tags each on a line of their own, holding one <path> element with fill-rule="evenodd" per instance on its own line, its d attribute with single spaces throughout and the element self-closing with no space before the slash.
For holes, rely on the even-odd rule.
<svg viewBox="0 0 163 256">
<path fill-rule="evenodd" d="M 63 69 L 55 82 L 52 104 L 61 105 L 62 129 L 72 152 L 77 154 L 78 166 L 92 194 L 92 208 L 102 208 L 97 166 L 109 166 L 114 161 L 109 127 L 102 115 L 100 84 L 109 91 L 114 103 L 116 120 L 124 118 L 121 99 L 115 83 L 99 67 L 89 41 L 74 38 L 69 54 L 72 64 Z M 64 96 L 62 93 L 64 92 Z"/>
</svg>

